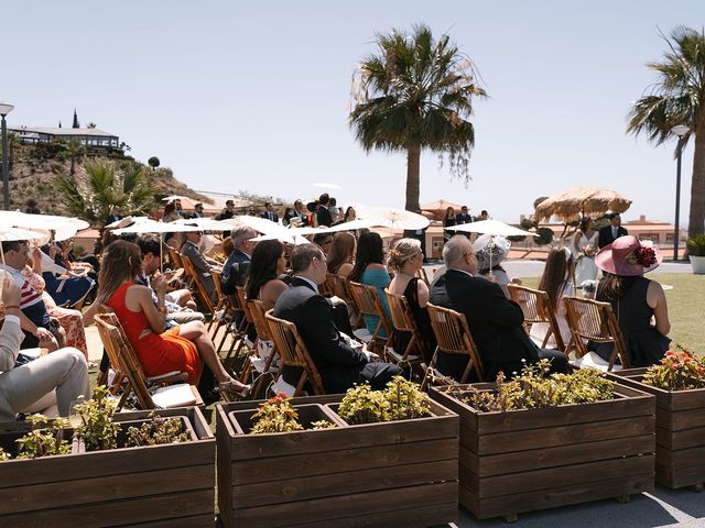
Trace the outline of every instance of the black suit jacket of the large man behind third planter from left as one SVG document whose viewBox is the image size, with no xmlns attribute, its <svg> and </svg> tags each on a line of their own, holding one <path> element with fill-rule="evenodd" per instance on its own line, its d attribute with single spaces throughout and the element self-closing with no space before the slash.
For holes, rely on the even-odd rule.
<svg viewBox="0 0 705 528">
<path fill-rule="evenodd" d="M 494 381 L 500 370 L 509 375 L 521 369 L 521 360 L 538 360 L 538 350 L 522 328 L 521 308 L 505 296 L 499 285 L 448 270 L 431 287 L 431 302 L 465 314 L 487 381 Z M 449 370 L 444 371 L 442 363 L 438 361 L 438 370 L 456 378 L 467 364 L 448 362 Z"/>
</svg>

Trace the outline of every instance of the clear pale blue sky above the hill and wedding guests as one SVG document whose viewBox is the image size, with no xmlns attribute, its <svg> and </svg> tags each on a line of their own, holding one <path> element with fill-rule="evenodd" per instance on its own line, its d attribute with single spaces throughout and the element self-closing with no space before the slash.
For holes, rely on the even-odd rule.
<svg viewBox="0 0 705 528">
<path fill-rule="evenodd" d="M 657 28 L 704 15 L 702 0 L 6 1 L 0 100 L 11 127 L 70 125 L 76 107 L 195 189 L 293 199 L 332 182 L 339 204 L 402 207 L 405 156 L 355 142 L 350 78 L 376 33 L 425 23 L 473 58 L 490 98 L 475 105 L 473 180 L 424 153 L 422 204 L 516 221 L 539 196 L 597 185 L 633 200 L 626 219 L 672 221 L 674 144 L 627 136 L 626 114 L 655 79 Z"/>
</svg>

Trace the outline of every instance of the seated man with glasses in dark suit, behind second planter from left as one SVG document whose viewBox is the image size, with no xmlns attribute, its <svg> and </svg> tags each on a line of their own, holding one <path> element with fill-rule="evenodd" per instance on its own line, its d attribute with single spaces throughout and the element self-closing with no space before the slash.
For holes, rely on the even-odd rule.
<svg viewBox="0 0 705 528">
<path fill-rule="evenodd" d="M 382 389 L 402 370 L 390 363 L 370 362 L 375 354 L 354 348 L 334 323 L 333 306 L 318 294 L 326 279 L 326 257 L 315 244 L 294 248 L 291 254 L 294 279 L 274 305 L 274 317 L 296 324 L 315 363 L 327 393 L 344 393 L 355 384 L 369 382 L 373 389 Z M 284 381 L 299 382 L 299 372 L 284 369 Z"/>
</svg>

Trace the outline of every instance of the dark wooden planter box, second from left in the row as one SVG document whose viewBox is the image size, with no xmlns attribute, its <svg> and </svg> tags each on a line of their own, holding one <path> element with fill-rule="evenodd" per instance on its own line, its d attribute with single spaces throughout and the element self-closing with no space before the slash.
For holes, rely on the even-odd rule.
<svg viewBox="0 0 705 528">
<path fill-rule="evenodd" d="M 432 402 L 433 417 L 348 426 L 324 405 L 341 398 L 295 398 L 296 408 L 321 404 L 316 413 L 339 426 L 290 433 L 240 432 L 257 402 L 217 406 L 226 526 L 426 527 L 457 519 L 458 417 Z"/>
</svg>

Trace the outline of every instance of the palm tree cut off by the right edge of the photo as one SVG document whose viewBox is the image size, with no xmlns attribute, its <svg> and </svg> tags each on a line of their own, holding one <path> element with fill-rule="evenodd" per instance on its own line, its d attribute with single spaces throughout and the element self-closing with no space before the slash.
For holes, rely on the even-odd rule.
<svg viewBox="0 0 705 528">
<path fill-rule="evenodd" d="M 685 124 L 683 146 L 695 136 L 687 229 L 693 238 L 705 231 L 705 32 L 677 26 L 664 40 L 663 61 L 647 64 L 658 80 L 629 112 L 627 132 L 643 132 L 659 145 L 675 135 L 673 127 Z"/>
</svg>

